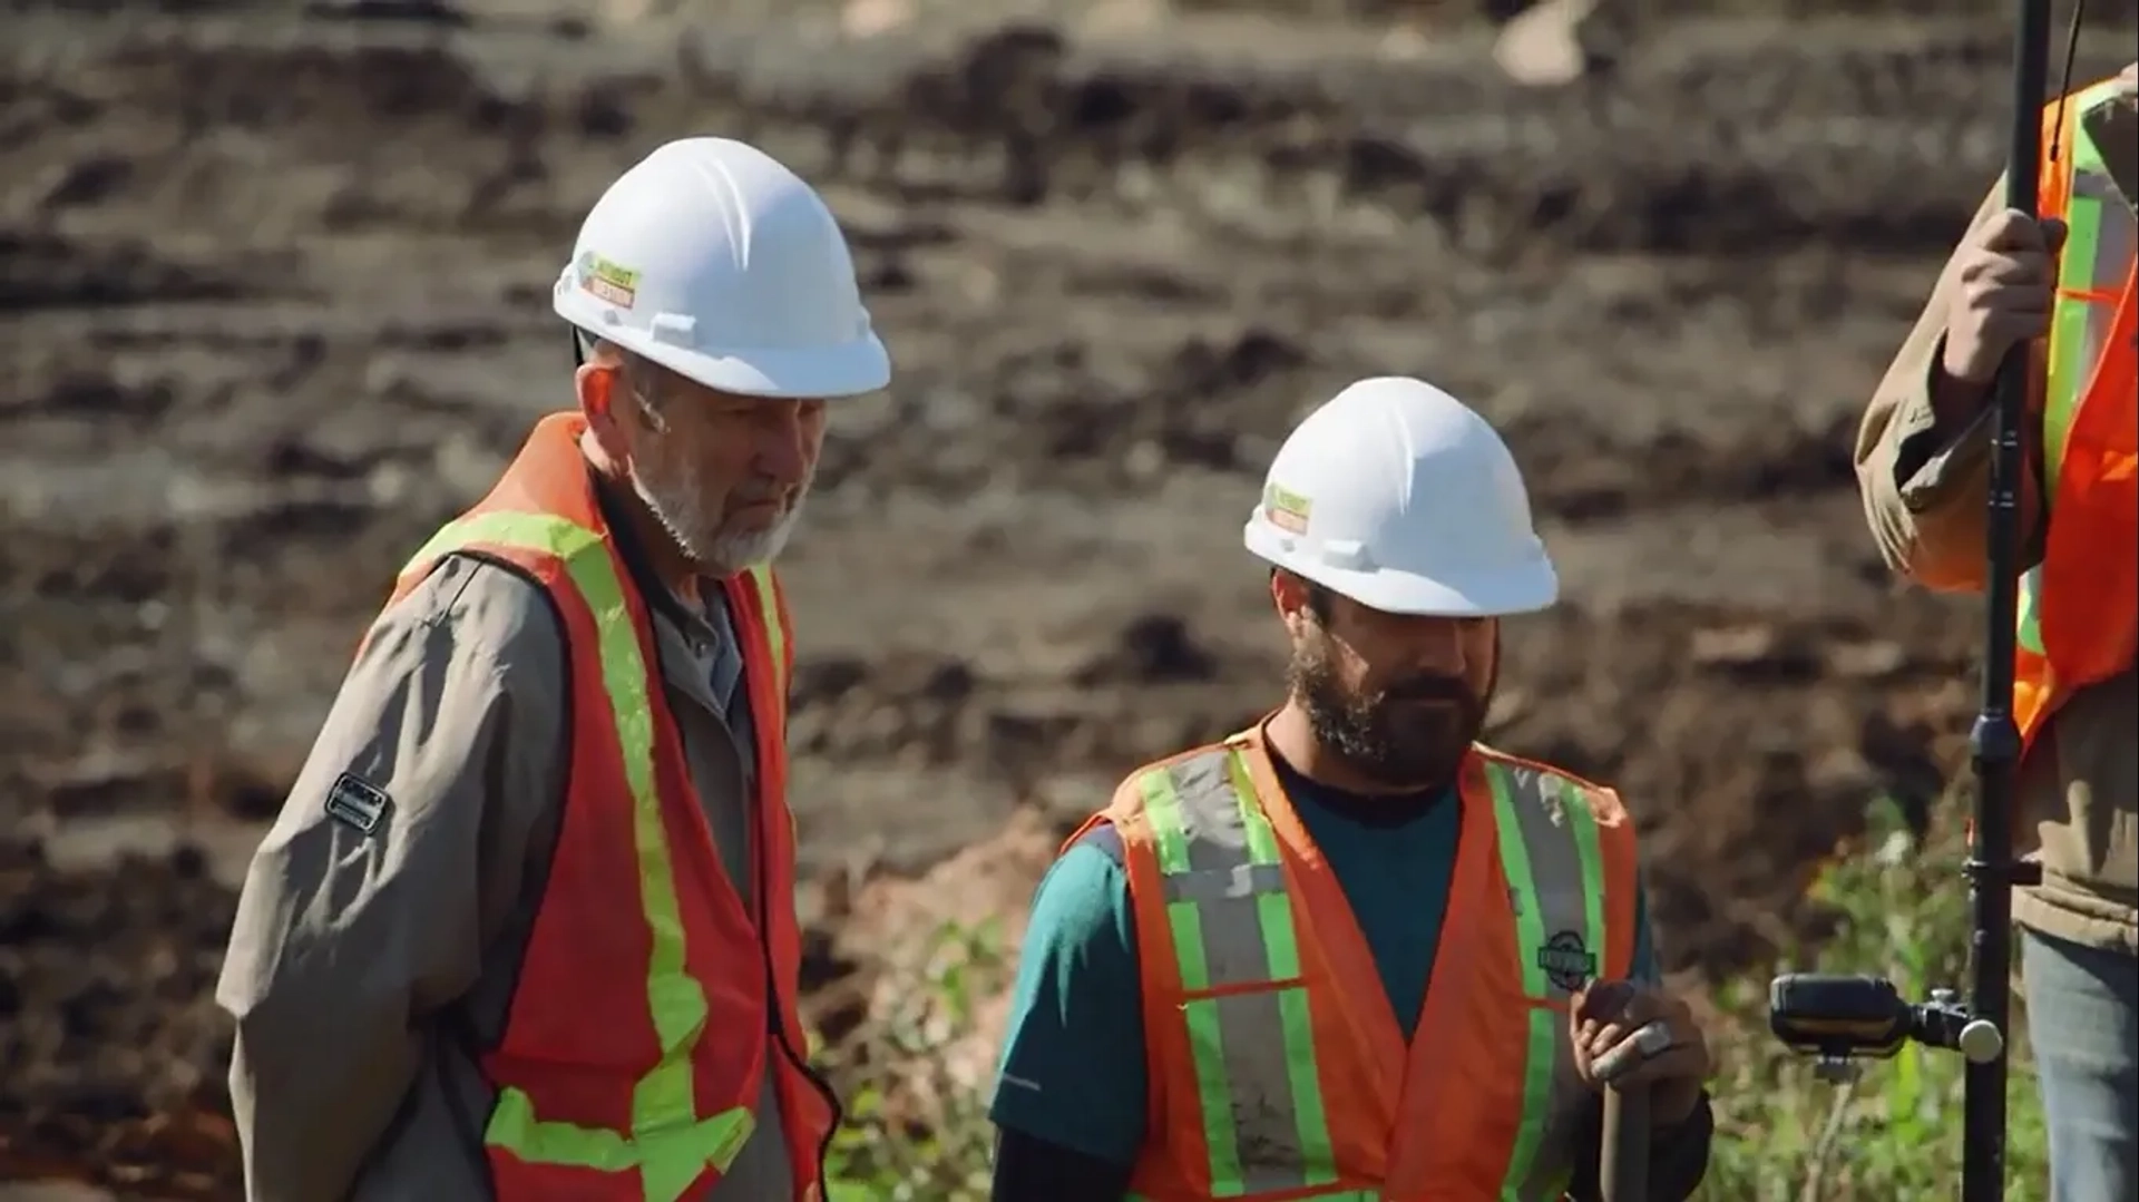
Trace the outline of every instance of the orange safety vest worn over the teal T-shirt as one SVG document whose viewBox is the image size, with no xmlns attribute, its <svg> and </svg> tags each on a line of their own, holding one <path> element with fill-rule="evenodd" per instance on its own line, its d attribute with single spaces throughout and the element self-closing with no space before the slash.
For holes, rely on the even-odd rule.
<svg viewBox="0 0 2139 1202">
<path fill-rule="evenodd" d="M 1476 746 L 1433 980 L 1405 1046 L 1343 888 L 1249 729 L 1153 764 L 1121 832 L 1142 958 L 1144 1202 L 1534 1202 L 1594 1093 L 1568 995 L 1634 958 L 1611 789 Z M 1067 845 L 1065 845 L 1067 847 Z"/>
</svg>

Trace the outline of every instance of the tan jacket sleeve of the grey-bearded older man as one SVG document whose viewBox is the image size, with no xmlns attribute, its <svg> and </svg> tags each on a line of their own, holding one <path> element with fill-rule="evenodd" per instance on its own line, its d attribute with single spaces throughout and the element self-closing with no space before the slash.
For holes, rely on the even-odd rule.
<svg viewBox="0 0 2139 1202">
<path fill-rule="evenodd" d="M 449 558 L 374 625 L 252 858 L 216 984 L 248 1200 L 351 1191 L 426 1016 L 475 982 L 560 804 L 563 684 L 548 599 L 496 565 Z"/>
</svg>

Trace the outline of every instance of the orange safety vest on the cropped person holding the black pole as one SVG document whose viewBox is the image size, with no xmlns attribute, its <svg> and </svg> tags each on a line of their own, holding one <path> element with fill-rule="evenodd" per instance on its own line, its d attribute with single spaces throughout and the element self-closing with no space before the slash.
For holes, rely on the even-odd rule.
<svg viewBox="0 0 2139 1202">
<path fill-rule="evenodd" d="M 2128 672 L 2139 650 L 2139 222 L 2081 120 L 2118 103 L 2113 94 L 2109 79 L 2043 113 L 2043 216 L 2064 218 L 2068 233 L 2045 351 L 2049 524 L 2043 563 L 2019 582 L 2013 719 L 2021 740 L 2079 689 Z M 2051 145 L 2062 148 L 2058 158 Z"/>
</svg>

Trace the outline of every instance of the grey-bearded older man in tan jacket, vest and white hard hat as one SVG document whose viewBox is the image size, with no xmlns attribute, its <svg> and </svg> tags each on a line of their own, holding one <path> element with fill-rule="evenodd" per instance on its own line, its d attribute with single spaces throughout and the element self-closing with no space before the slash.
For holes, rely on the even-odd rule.
<svg viewBox="0 0 2139 1202">
<path fill-rule="evenodd" d="M 766 565 L 890 361 L 824 201 L 727 139 L 618 178 L 552 306 L 578 409 L 402 569 L 246 877 L 252 1202 L 821 1193 Z"/>
</svg>

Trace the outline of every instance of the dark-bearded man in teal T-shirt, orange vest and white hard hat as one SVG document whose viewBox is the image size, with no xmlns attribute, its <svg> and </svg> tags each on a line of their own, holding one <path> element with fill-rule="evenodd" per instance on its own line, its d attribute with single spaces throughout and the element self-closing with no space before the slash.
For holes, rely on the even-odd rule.
<svg viewBox="0 0 2139 1202">
<path fill-rule="evenodd" d="M 1478 742 L 1499 618 L 1557 577 L 1508 447 L 1360 381 L 1247 522 L 1286 704 L 1147 766 L 1033 900 L 997 1202 L 1596 1198 L 1596 1063 L 1638 1031 L 1651 1193 L 1707 1168 L 1709 1054 L 1658 988 L 1634 828 Z M 1609 999 L 1609 1001 L 1606 1001 Z"/>
</svg>

